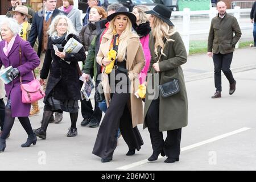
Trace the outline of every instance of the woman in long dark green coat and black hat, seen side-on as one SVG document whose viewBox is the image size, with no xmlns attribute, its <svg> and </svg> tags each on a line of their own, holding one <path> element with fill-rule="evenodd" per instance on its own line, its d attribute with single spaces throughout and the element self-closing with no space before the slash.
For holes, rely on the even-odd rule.
<svg viewBox="0 0 256 182">
<path fill-rule="evenodd" d="M 164 160 L 165 163 L 174 163 L 179 161 L 181 128 L 187 126 L 188 122 L 187 92 L 180 67 L 187 61 L 187 52 L 180 34 L 170 20 L 170 9 L 156 5 L 153 10 L 145 13 L 150 14 L 151 27 L 151 63 L 148 70 L 152 75 L 159 76 L 159 85 L 177 79 L 180 87 L 178 93 L 165 98 L 160 93 L 157 98 L 152 97 L 150 93 L 146 94 L 143 129 L 148 127 L 153 149 L 153 154 L 148 160 L 157 160 L 161 154 L 168 157 Z M 148 83 L 150 78 L 147 77 Z M 150 90 L 150 86 L 147 84 L 147 90 Z M 156 91 L 158 92 L 158 89 Z M 167 131 L 166 140 L 163 139 L 163 131 Z"/>
</svg>

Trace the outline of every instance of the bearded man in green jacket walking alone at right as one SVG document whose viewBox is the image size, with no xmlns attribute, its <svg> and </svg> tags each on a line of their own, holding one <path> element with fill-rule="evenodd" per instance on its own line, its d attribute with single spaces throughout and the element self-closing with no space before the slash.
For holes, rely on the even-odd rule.
<svg viewBox="0 0 256 182">
<path fill-rule="evenodd" d="M 208 37 L 208 53 L 214 63 L 214 84 L 216 92 L 212 98 L 221 97 L 221 70 L 229 81 L 229 94 L 236 90 L 236 80 L 230 70 L 234 47 L 241 38 L 237 19 L 226 13 L 225 2 L 217 3 L 218 15 L 212 19 Z"/>
</svg>

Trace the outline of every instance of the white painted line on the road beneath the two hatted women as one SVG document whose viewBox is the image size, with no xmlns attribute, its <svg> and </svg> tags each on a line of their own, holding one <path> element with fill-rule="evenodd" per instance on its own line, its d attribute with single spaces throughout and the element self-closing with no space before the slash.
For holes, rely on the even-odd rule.
<svg viewBox="0 0 256 182">
<path fill-rule="evenodd" d="M 191 144 L 190 146 L 187 146 L 187 147 L 183 147 L 183 148 L 180 149 L 180 151 L 182 152 L 182 151 L 185 151 L 185 150 L 189 150 L 191 148 L 203 146 L 204 144 L 207 144 L 207 143 L 210 143 L 210 142 L 214 142 L 216 140 L 219 140 L 219 139 L 222 139 L 222 138 L 226 138 L 226 137 L 229 137 L 231 135 L 238 134 L 238 133 L 241 133 L 241 132 L 249 130 L 249 129 L 250 129 L 249 127 L 243 127 L 241 129 L 234 130 L 234 131 L 231 131 L 229 133 L 226 133 L 226 134 L 223 134 L 223 135 L 219 135 L 217 137 L 213 137 L 213 138 L 210 138 L 208 140 L 204 140 L 204 141 L 199 142 L 199 143 Z M 158 159 L 161 159 L 161 158 L 163 158 L 163 156 L 159 156 L 158 157 Z M 126 166 L 118 167 L 117 169 L 127 170 L 127 169 L 130 169 L 130 168 L 133 168 L 133 167 L 141 166 L 142 164 L 146 164 L 148 162 L 149 161 L 147 159 L 145 159 L 145 160 L 141 160 L 141 161 L 136 162 L 136 163 L 128 164 Z"/>
</svg>

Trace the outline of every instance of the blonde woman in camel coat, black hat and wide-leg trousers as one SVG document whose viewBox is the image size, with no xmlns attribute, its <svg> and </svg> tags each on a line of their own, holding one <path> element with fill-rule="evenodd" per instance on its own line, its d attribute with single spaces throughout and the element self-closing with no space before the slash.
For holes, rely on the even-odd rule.
<svg viewBox="0 0 256 182">
<path fill-rule="evenodd" d="M 141 98 L 137 98 L 134 93 L 139 86 L 138 75 L 144 67 L 145 59 L 139 36 L 131 31 L 136 16 L 121 7 L 107 19 L 110 21 L 109 29 L 102 37 L 96 60 L 106 67 L 111 62 L 108 52 L 114 50 L 117 56 L 112 72 L 102 72 L 101 85 L 108 110 L 92 152 L 101 158 L 101 162 L 112 160 L 117 147 L 118 128 L 129 147 L 126 155 L 134 155 L 135 150 L 140 150 L 143 144 L 137 128 L 138 124 L 143 123 L 143 105 Z"/>
</svg>

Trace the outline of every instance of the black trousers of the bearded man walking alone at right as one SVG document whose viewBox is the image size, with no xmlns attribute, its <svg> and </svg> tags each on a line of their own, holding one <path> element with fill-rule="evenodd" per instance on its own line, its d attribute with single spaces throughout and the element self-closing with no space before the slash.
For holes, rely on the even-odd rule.
<svg viewBox="0 0 256 182">
<path fill-rule="evenodd" d="M 233 84 L 234 77 L 230 70 L 230 65 L 232 62 L 233 52 L 222 55 L 221 53 L 213 54 L 214 63 L 214 84 L 216 91 L 221 92 L 221 70 L 229 81 L 229 84 Z"/>
</svg>

